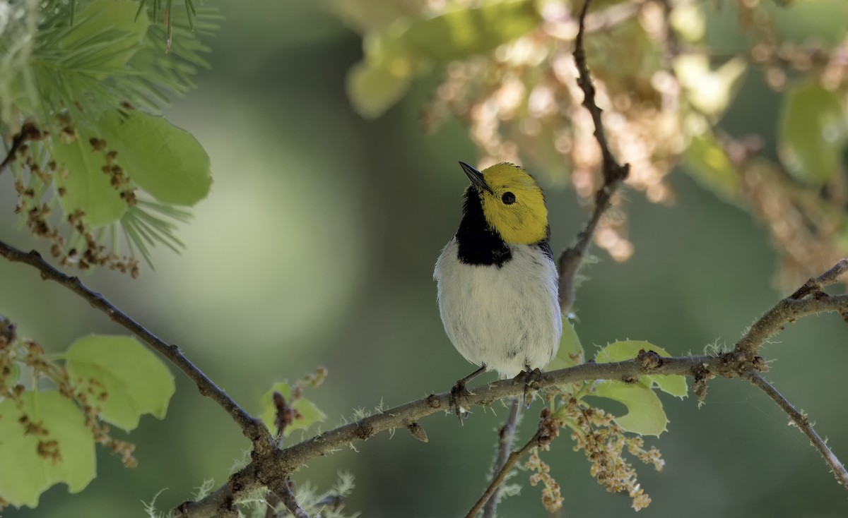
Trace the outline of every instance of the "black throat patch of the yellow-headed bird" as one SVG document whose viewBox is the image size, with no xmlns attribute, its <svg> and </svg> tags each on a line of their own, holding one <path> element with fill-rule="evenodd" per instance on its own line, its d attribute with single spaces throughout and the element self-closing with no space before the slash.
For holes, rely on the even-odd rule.
<svg viewBox="0 0 848 518">
<path fill-rule="evenodd" d="M 462 221 L 456 231 L 460 262 L 466 264 L 494 265 L 502 267 L 512 259 L 510 247 L 489 227 L 483 216 L 483 201 L 476 187 L 466 189 L 466 201 L 462 206 Z"/>
</svg>

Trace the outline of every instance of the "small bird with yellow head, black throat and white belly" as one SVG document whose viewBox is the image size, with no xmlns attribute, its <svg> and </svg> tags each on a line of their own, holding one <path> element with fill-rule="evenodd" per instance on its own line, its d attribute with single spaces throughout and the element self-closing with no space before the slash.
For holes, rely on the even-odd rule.
<svg viewBox="0 0 848 518">
<path fill-rule="evenodd" d="M 466 383 L 487 371 L 500 378 L 538 374 L 559 348 L 562 316 L 542 189 L 512 163 L 483 171 L 460 166 L 471 184 L 433 278 L 450 342 L 479 366 L 451 389 L 461 422 L 456 401 Z M 527 385 L 525 401 L 526 393 Z"/>
</svg>

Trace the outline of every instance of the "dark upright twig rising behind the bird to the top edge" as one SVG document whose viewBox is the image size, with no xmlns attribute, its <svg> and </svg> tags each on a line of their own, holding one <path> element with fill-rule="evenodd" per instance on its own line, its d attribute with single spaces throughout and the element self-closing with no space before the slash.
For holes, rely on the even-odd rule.
<svg viewBox="0 0 848 518">
<path fill-rule="evenodd" d="M 595 230 L 598 228 L 600 218 L 610 208 L 612 196 L 618 187 L 627 179 L 630 165 L 619 164 L 616 157 L 612 155 L 610 143 L 606 139 L 604 124 L 600 114 L 602 110 L 594 101 L 594 85 L 592 76 L 589 74 L 589 65 L 586 64 L 586 52 L 583 49 L 583 34 L 585 33 L 586 14 L 592 0 L 586 0 L 583 10 L 580 11 L 579 28 L 577 37 L 574 39 L 574 62 L 577 64 L 577 85 L 583 90 L 583 107 L 589 110 L 594 123 L 594 138 L 600 146 L 601 157 L 603 157 L 604 184 L 594 196 L 594 212 L 583 230 L 577 234 L 574 245 L 562 252 L 559 260 L 560 271 L 560 306 L 563 313 L 571 311 L 574 305 L 574 292 L 577 284 L 577 273 L 583 265 L 583 259 L 589 251 L 589 245 L 594 239 Z"/>
</svg>

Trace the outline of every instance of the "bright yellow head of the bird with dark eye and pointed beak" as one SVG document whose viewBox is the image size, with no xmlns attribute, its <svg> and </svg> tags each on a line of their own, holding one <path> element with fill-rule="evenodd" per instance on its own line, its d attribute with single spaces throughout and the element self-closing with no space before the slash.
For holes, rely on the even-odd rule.
<svg viewBox="0 0 848 518">
<path fill-rule="evenodd" d="M 477 171 L 460 162 L 483 202 L 486 223 L 507 243 L 532 245 L 548 237 L 548 209 L 536 180 L 511 163 Z"/>
</svg>

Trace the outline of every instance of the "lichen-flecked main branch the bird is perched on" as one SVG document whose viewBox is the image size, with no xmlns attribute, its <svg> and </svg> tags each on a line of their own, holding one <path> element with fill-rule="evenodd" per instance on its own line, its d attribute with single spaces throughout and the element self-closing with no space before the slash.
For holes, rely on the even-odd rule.
<svg viewBox="0 0 848 518">
<path fill-rule="evenodd" d="M 812 281 L 819 284 L 833 284 L 834 279 L 845 270 L 848 270 L 848 261 L 840 261 L 827 273 Z M 813 293 L 817 292 L 811 291 L 807 295 Z M 801 300 L 793 299 L 793 296 L 795 294 L 778 302 L 778 306 L 784 308 L 780 315 L 785 320 L 777 324 L 776 330 L 779 330 L 784 323 L 794 321 L 798 317 L 830 311 L 839 311 L 842 314 L 848 312 L 848 295 L 810 296 Z M 771 313 L 772 311 L 768 311 L 751 328 L 762 328 L 765 325 L 762 320 L 772 318 Z M 749 335 L 749 341 L 756 350 L 773 333 L 746 333 L 746 336 Z M 706 380 L 712 377 L 750 379 L 750 372 L 764 368 L 766 366 L 762 360 L 757 361 L 756 357 L 753 359 L 748 357 L 739 346 L 735 350 L 718 356 L 661 357 L 652 351 L 643 351 L 633 360 L 615 363 L 583 363 L 558 371 L 544 372 L 538 376 L 538 388 L 547 389 L 568 383 L 599 379 L 632 380 L 634 377 L 650 373 L 694 377 L 694 390 L 700 396 L 705 392 L 699 392 L 697 386 L 703 385 L 706 391 Z M 470 394 L 460 396 L 459 404 L 466 408 L 471 405 L 488 406 L 495 400 L 514 398 L 521 394 L 524 394 L 524 383 L 505 379 L 471 389 Z M 418 422 L 422 417 L 438 411 L 448 411 L 449 400 L 449 392 L 430 394 L 421 400 L 410 401 L 357 422 L 349 422 L 287 449 L 277 450 L 272 455 L 256 459 L 242 471 L 234 473 L 227 484 L 205 499 L 181 504 L 176 510 L 176 515 L 183 518 L 209 518 L 215 515 L 221 506 L 225 506 L 228 502 L 232 503 L 240 494 L 259 488 L 263 484 L 259 482 L 260 480 L 267 483 L 276 477 L 287 477 L 289 472 L 304 466 L 309 460 L 327 455 L 344 444 L 364 441 L 389 429 L 410 427 L 411 423 Z M 259 477 L 259 473 L 263 474 L 262 477 Z"/>
</svg>

